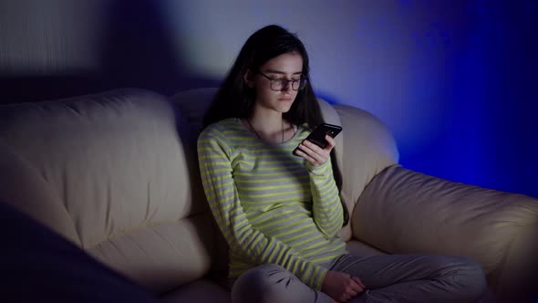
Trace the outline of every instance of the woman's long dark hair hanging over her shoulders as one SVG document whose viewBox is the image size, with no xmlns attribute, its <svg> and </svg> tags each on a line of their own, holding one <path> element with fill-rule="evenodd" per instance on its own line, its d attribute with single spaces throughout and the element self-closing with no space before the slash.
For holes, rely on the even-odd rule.
<svg viewBox="0 0 538 303">
<path fill-rule="evenodd" d="M 309 79 L 308 54 L 303 42 L 295 34 L 281 26 L 265 26 L 249 37 L 241 48 L 233 67 L 217 91 L 212 105 L 203 117 L 203 128 L 227 118 L 249 118 L 253 113 L 255 90 L 248 87 L 244 81 L 247 70 L 258 71 L 265 62 L 283 54 L 296 52 L 303 57 L 303 77 Z M 297 92 L 295 101 L 283 118 L 295 125 L 307 123 L 311 130 L 323 123 L 323 115 L 316 100 L 314 89 L 307 81 L 305 89 Z M 336 151 L 331 151 L 331 164 L 338 192 L 342 190 L 342 173 L 336 162 Z M 344 208 L 344 225 L 349 221 L 347 205 L 342 199 Z"/>
</svg>

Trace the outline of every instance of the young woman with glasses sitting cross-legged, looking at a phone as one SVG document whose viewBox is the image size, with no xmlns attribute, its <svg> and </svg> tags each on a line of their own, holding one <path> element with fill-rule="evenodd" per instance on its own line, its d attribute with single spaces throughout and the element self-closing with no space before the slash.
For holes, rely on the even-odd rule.
<svg viewBox="0 0 538 303">
<path fill-rule="evenodd" d="M 204 191 L 230 246 L 233 302 L 480 298 L 485 279 L 469 259 L 348 254 L 336 236 L 348 214 L 335 141 L 305 141 L 321 122 L 303 43 L 280 26 L 255 32 L 198 139 Z"/>
</svg>

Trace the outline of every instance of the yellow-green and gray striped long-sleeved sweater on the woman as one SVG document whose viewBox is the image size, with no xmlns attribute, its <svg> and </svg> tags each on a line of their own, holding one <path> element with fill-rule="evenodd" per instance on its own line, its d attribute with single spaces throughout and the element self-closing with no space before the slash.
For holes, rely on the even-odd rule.
<svg viewBox="0 0 538 303">
<path fill-rule="evenodd" d="M 230 277 L 277 264 L 320 289 L 327 264 L 346 254 L 336 237 L 342 205 L 330 161 L 312 166 L 292 154 L 309 133 L 270 145 L 230 118 L 198 139 L 202 183 L 212 214 L 230 246 Z"/>
</svg>

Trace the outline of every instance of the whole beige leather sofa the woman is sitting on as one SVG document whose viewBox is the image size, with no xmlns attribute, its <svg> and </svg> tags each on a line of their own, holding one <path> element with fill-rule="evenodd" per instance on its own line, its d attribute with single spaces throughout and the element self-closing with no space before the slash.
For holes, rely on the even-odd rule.
<svg viewBox="0 0 538 303">
<path fill-rule="evenodd" d="M 164 301 L 228 302 L 195 150 L 214 92 L 119 89 L 2 106 L 0 198 Z M 538 200 L 403 168 L 378 119 L 320 104 L 344 128 L 336 151 L 352 215 L 340 235 L 352 252 L 471 256 L 487 273 L 484 301 L 516 290 L 538 255 Z"/>
</svg>

